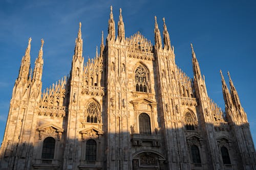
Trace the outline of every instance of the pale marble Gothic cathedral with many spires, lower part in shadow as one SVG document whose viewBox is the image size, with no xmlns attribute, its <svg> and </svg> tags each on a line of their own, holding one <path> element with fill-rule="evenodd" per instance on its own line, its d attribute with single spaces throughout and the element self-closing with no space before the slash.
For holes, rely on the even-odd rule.
<svg viewBox="0 0 256 170">
<path fill-rule="evenodd" d="M 175 63 L 163 18 L 155 42 L 125 37 L 112 7 L 99 54 L 84 61 L 81 23 L 70 76 L 42 90 L 43 45 L 31 38 L 15 81 L 0 169 L 256 169 L 247 115 L 230 74 L 225 111 L 212 101 L 191 44 L 194 77 Z M 117 32 L 117 35 L 116 35 Z"/>
</svg>

